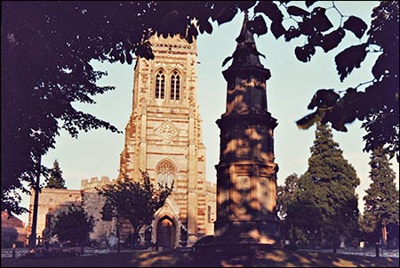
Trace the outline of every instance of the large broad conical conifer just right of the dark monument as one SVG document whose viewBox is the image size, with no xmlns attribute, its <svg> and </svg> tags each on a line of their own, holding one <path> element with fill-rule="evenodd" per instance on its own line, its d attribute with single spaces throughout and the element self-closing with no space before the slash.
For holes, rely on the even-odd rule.
<svg viewBox="0 0 400 268">
<path fill-rule="evenodd" d="M 308 170 L 300 176 L 285 223 L 290 236 L 319 244 L 324 239 L 337 247 L 340 236 L 349 241 L 357 230 L 356 186 L 353 166 L 343 158 L 328 126 L 317 124 Z M 300 234 L 300 235 L 299 235 Z"/>
</svg>

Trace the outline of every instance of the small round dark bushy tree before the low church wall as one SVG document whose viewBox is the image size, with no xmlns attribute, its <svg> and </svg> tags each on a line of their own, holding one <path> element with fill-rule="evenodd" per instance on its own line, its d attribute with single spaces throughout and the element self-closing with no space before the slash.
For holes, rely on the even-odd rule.
<svg viewBox="0 0 400 268">
<path fill-rule="evenodd" d="M 93 216 L 87 215 L 81 207 L 68 207 L 57 215 L 52 235 L 57 235 L 61 243 L 69 241 L 71 245 L 83 245 L 89 239 L 89 233 L 93 230 Z"/>
</svg>

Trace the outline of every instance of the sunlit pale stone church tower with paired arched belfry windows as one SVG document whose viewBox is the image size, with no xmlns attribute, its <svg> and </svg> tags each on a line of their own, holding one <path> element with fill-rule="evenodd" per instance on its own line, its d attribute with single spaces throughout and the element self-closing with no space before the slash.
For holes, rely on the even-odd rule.
<svg viewBox="0 0 400 268">
<path fill-rule="evenodd" d="M 205 181 L 205 147 L 197 105 L 196 40 L 150 38 L 154 60 L 138 58 L 134 69 L 132 115 L 125 127 L 119 177 L 172 183 L 172 195 L 156 213 L 152 240 L 159 246 L 188 245 L 212 230 Z M 214 192 L 215 195 L 215 192 Z M 213 200 L 215 202 L 215 199 Z"/>
</svg>

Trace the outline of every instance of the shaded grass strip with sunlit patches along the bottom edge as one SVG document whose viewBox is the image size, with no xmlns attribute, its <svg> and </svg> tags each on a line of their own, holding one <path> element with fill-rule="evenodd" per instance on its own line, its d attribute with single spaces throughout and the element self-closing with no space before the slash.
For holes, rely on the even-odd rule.
<svg viewBox="0 0 400 268">
<path fill-rule="evenodd" d="M 54 259 L 2 259 L 2 267 L 398 267 L 398 258 L 272 250 L 263 256 L 202 256 L 192 252 L 129 252 Z"/>
</svg>

